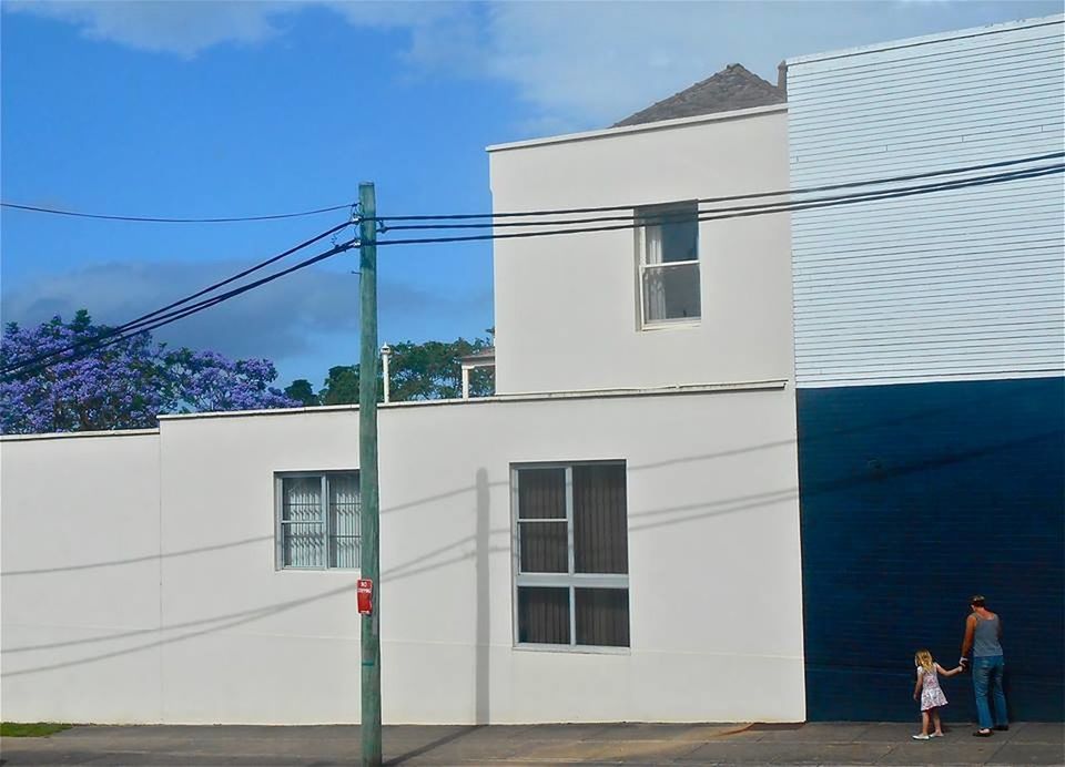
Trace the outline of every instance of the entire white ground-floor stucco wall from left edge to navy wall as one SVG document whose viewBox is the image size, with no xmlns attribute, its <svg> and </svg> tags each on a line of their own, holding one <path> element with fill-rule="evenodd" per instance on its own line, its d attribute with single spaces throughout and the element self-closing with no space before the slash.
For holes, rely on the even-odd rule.
<svg viewBox="0 0 1065 767">
<path fill-rule="evenodd" d="M 383 408 L 385 722 L 802 719 L 793 402 Z M 4 441 L 4 718 L 357 722 L 357 573 L 275 570 L 273 498 L 357 443 L 355 410 Z M 510 466 L 594 459 L 628 466 L 631 647 L 516 648 Z"/>
</svg>

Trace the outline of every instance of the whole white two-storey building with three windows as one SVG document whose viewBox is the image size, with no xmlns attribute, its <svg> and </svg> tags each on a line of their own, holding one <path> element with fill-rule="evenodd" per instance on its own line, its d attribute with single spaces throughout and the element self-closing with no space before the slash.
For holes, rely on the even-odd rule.
<svg viewBox="0 0 1065 767">
<path fill-rule="evenodd" d="M 385 723 L 804 718 L 789 222 L 694 213 L 787 187 L 787 113 L 716 82 L 489 150 L 497 211 L 646 225 L 499 241 L 497 396 L 381 408 Z M 0 441 L 3 717 L 357 722 L 357 429 Z"/>
</svg>

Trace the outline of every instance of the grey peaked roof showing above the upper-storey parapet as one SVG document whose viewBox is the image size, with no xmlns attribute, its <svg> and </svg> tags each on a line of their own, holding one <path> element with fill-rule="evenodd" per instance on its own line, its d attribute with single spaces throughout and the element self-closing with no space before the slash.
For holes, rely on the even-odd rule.
<svg viewBox="0 0 1065 767">
<path fill-rule="evenodd" d="M 613 127 L 782 104 L 787 100 L 785 89 L 765 82 L 742 64 L 729 64 L 713 76 L 615 123 Z"/>
</svg>

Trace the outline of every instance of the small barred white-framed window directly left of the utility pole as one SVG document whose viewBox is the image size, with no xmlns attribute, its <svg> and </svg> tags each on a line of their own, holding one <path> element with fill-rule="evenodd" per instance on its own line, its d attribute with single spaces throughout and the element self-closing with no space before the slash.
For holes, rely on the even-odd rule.
<svg viewBox="0 0 1065 767">
<path fill-rule="evenodd" d="M 277 567 L 358 569 L 358 473 L 285 473 L 275 484 Z"/>
</svg>

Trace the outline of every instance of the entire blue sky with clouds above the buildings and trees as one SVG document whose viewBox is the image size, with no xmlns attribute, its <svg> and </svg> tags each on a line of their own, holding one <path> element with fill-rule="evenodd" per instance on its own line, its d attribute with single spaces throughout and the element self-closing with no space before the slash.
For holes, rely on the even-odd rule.
<svg viewBox="0 0 1065 767">
<path fill-rule="evenodd" d="M 976 2 L 45 2 L 0 14 L 0 193 L 153 216 L 342 204 L 490 209 L 484 147 L 609 125 L 732 62 L 771 81 L 792 55 L 1061 12 Z M 4 208 L 0 314 L 118 324 L 316 234 L 272 223 L 79 221 Z M 358 356 L 354 254 L 156 333 L 267 357 L 321 385 Z M 385 341 L 483 335 L 483 243 L 381 252 Z"/>
</svg>

